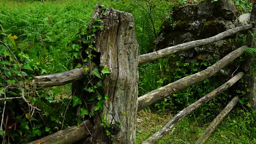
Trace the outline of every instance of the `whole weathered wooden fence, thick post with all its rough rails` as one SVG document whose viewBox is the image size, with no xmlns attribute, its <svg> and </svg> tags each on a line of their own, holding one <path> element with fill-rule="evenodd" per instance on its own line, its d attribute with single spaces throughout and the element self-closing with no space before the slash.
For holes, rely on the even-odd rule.
<svg viewBox="0 0 256 144">
<path fill-rule="evenodd" d="M 108 109 L 104 107 L 103 114 L 106 114 L 107 121 L 110 124 L 113 117 L 116 121 L 122 120 L 120 128 L 116 128 L 116 132 L 112 133 L 114 140 L 112 142 L 107 141 L 104 130 L 102 130 L 99 123 L 100 116 L 96 116 L 94 120 L 85 120 L 79 126 L 72 126 L 66 130 L 60 130 L 50 136 L 30 142 L 29 144 L 71 144 L 88 137 L 92 137 L 91 143 L 95 144 L 134 144 L 136 135 L 136 117 L 139 110 L 161 101 L 167 96 L 188 88 L 193 84 L 210 78 L 243 54 L 248 46 L 255 46 L 254 39 L 248 35 L 248 46 L 245 45 L 237 48 L 206 70 L 181 78 L 180 80 L 153 90 L 138 98 L 138 64 L 151 62 L 176 52 L 217 42 L 218 40 L 241 31 L 252 29 L 252 32 L 256 34 L 256 29 L 254 28 L 256 21 L 256 3 L 253 3 L 250 24 L 232 28 L 210 38 L 171 46 L 143 55 L 139 55 L 133 16 L 126 12 L 120 12 L 111 8 L 106 9 L 106 15 L 100 15 L 100 12 L 102 12 L 101 7 L 97 5 L 92 21 L 98 16 L 101 16 L 101 19 L 103 19 L 102 24 L 105 29 L 96 33 L 96 48 L 97 52 L 100 52 L 101 54 L 100 66 L 104 66 L 111 71 L 108 78 L 104 79 L 103 85 L 105 94 L 110 96 L 110 100 L 105 103 L 108 108 L 112 108 L 113 111 L 112 114 L 109 114 Z M 86 76 L 83 69 L 85 66 L 89 67 L 89 70 L 87 71 L 87 73 L 89 73 L 90 70 L 92 70 L 92 66 L 90 66 L 90 64 L 85 64 L 81 68 L 75 68 L 74 70 L 67 72 L 36 76 L 33 79 L 33 83 L 36 84 L 38 88 L 49 88 L 69 83 L 81 84 L 80 82 L 83 80 L 84 76 Z M 170 132 L 182 118 L 190 114 L 196 108 L 199 108 L 202 104 L 218 96 L 218 94 L 222 93 L 224 90 L 230 88 L 243 76 L 244 73 L 239 72 L 222 86 L 216 88 L 180 111 L 161 130 L 150 136 L 150 138 L 145 140 L 142 144 L 156 143 L 164 135 Z M 208 126 L 202 136 L 195 142 L 196 144 L 202 144 L 207 140 L 218 124 L 220 124 L 224 117 L 232 110 L 232 108 L 234 108 L 238 100 L 239 97 L 235 96 L 226 108 L 224 108 L 224 110 L 222 110 L 222 112 L 220 112 L 220 114 L 213 120 L 212 124 Z M 126 113 L 126 116 L 122 115 L 123 111 Z"/>
</svg>

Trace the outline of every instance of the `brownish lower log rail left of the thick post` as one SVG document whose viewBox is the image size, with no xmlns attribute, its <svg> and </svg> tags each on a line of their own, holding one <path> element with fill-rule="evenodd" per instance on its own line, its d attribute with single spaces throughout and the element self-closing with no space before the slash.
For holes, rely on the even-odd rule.
<svg viewBox="0 0 256 144">
<path fill-rule="evenodd" d="M 72 144 L 89 136 L 92 129 L 92 123 L 86 120 L 79 126 L 72 126 L 66 130 L 60 130 L 28 144 Z"/>
</svg>

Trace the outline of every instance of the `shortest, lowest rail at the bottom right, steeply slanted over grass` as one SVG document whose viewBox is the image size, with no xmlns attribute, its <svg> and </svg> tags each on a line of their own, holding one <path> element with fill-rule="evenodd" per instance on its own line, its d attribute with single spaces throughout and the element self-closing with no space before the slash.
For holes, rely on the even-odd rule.
<svg viewBox="0 0 256 144">
<path fill-rule="evenodd" d="M 198 138 L 195 144 L 204 144 L 204 142 L 210 137 L 213 131 L 217 128 L 217 126 L 224 120 L 224 118 L 229 114 L 229 112 L 236 106 L 239 101 L 239 97 L 234 97 L 231 102 L 220 112 L 220 114 L 212 121 L 210 126 L 204 131 L 202 136 Z"/>
</svg>

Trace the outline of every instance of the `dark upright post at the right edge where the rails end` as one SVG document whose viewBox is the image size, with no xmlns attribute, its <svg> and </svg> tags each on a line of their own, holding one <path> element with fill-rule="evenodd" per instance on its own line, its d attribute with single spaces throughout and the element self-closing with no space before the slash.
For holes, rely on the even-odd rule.
<svg viewBox="0 0 256 144">
<path fill-rule="evenodd" d="M 248 33 L 247 43 L 250 48 L 256 48 L 256 2 L 252 4 L 252 12 L 250 21 L 254 24 L 253 28 L 251 29 L 251 33 Z M 252 68 L 252 64 L 255 62 L 254 56 L 249 60 L 248 70 L 249 70 L 249 77 L 247 77 L 248 86 L 250 88 L 249 97 L 251 99 L 251 104 L 253 108 L 256 108 L 256 75 L 254 74 L 255 68 Z"/>
</svg>

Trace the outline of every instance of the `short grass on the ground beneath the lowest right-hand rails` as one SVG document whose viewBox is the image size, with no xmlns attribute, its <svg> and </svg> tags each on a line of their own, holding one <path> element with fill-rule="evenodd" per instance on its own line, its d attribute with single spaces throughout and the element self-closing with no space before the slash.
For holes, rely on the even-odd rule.
<svg viewBox="0 0 256 144">
<path fill-rule="evenodd" d="M 252 114 L 240 112 L 239 117 L 231 112 L 218 126 L 206 144 L 256 144 L 255 124 Z M 193 113 L 191 115 L 194 115 Z M 136 143 L 140 144 L 148 137 L 160 130 L 174 115 L 170 111 L 156 114 L 150 110 L 142 110 L 138 118 L 142 122 L 137 123 Z M 194 144 L 201 136 L 208 124 L 202 124 L 194 118 L 184 118 L 172 131 L 157 144 Z"/>
</svg>

